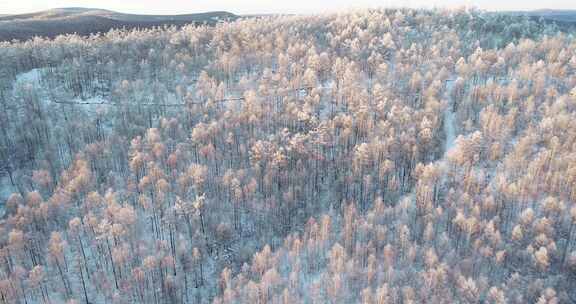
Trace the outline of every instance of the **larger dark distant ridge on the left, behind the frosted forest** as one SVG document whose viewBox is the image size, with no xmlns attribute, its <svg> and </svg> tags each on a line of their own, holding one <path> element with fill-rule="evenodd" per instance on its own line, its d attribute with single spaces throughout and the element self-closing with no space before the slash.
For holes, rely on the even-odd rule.
<svg viewBox="0 0 576 304">
<path fill-rule="evenodd" d="M 29 14 L 0 15 L 0 41 L 26 40 L 35 36 L 52 38 L 71 33 L 89 35 L 114 28 L 215 24 L 238 18 L 239 16 L 224 11 L 182 15 L 137 15 L 82 7 L 57 8 Z"/>
</svg>

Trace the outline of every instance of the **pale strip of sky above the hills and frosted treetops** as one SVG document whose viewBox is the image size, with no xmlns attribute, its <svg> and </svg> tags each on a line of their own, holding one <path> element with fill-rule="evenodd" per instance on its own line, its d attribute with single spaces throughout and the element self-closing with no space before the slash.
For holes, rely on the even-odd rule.
<svg viewBox="0 0 576 304">
<path fill-rule="evenodd" d="M 236 14 L 321 13 L 367 7 L 461 7 L 485 10 L 576 9 L 576 0 L 0 0 L 0 14 L 90 7 L 136 14 L 224 10 Z"/>
</svg>

